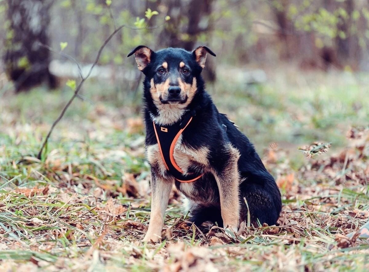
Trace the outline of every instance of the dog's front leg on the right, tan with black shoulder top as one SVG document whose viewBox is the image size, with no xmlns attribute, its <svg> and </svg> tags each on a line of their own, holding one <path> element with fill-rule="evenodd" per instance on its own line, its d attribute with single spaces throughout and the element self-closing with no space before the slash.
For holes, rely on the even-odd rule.
<svg viewBox="0 0 369 272">
<path fill-rule="evenodd" d="M 220 196 L 220 209 L 223 219 L 223 226 L 235 233 L 239 225 L 239 174 L 238 158 L 239 152 L 231 145 L 225 147 L 214 165 L 214 177 L 217 181 Z"/>
</svg>

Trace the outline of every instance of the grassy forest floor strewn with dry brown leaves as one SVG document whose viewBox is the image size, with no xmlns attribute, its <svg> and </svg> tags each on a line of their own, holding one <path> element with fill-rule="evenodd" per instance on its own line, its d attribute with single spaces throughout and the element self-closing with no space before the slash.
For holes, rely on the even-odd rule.
<svg viewBox="0 0 369 272">
<path fill-rule="evenodd" d="M 158 244 L 140 242 L 150 188 L 139 93 L 87 82 L 38 160 L 72 91 L 1 89 L 0 270 L 368 271 L 369 240 L 356 231 L 369 218 L 368 77 L 267 74 L 208 90 L 276 178 L 277 226 L 242 224 L 233 237 L 187 227 L 173 188 Z M 314 141 L 331 148 L 297 149 Z"/>
</svg>

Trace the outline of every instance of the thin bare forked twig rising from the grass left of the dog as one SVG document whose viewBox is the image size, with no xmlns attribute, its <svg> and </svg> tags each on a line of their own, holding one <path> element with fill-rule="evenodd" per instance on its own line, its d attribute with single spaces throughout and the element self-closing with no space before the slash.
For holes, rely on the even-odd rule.
<svg viewBox="0 0 369 272">
<path fill-rule="evenodd" d="M 45 146 L 46 146 L 46 144 L 47 144 L 47 142 L 48 142 L 48 140 L 49 140 L 49 138 L 50 138 L 50 136 L 51 136 L 51 133 L 52 133 L 52 131 L 54 130 L 54 128 L 55 128 L 55 126 L 59 123 L 59 121 L 63 118 L 63 116 L 64 116 L 64 114 L 65 114 L 65 112 L 66 112 L 66 110 L 69 108 L 69 106 L 70 106 L 70 104 L 72 104 L 72 102 L 73 102 L 73 100 L 78 96 L 78 92 L 80 91 L 80 89 L 82 88 L 82 85 L 83 85 L 83 83 L 86 81 L 86 79 L 88 79 L 88 77 L 90 76 L 90 74 L 91 74 L 91 72 L 92 72 L 92 69 L 95 67 L 95 65 L 97 64 L 97 62 L 99 61 L 99 58 L 100 58 L 100 55 L 101 55 L 101 52 L 103 51 L 103 49 L 105 48 L 105 46 L 107 45 L 107 43 L 111 40 L 111 38 L 113 38 L 113 36 L 115 35 L 115 34 L 117 34 L 117 32 L 118 31 L 120 31 L 123 27 L 125 27 L 125 25 L 121 25 L 120 27 L 118 27 L 117 29 L 115 29 L 114 30 L 114 32 L 112 33 L 112 34 L 110 34 L 110 36 L 104 41 L 104 43 L 103 43 L 103 45 L 101 45 L 101 47 L 100 47 L 100 49 L 99 49 L 99 52 L 97 53 L 97 56 L 96 56 L 96 59 L 95 59 L 95 61 L 94 61 L 94 63 L 92 64 L 92 66 L 91 66 L 91 68 L 90 68 L 90 70 L 89 70 L 89 73 L 87 74 L 87 76 L 85 76 L 85 77 L 83 77 L 83 75 L 82 75 L 82 70 L 80 69 L 80 66 L 79 66 L 79 64 L 78 64 L 78 62 L 74 59 L 74 58 L 72 58 L 72 57 L 70 57 L 70 56 L 68 56 L 68 55 L 66 55 L 66 54 L 63 54 L 64 56 L 67 56 L 68 58 L 70 57 L 70 59 L 72 59 L 73 61 L 75 61 L 76 63 L 77 63 L 77 65 L 78 65 L 78 69 L 80 70 L 80 76 L 81 76 L 81 78 L 82 78 L 82 80 L 80 81 L 80 83 L 78 84 L 78 86 L 77 86 L 77 88 L 76 88 L 76 90 L 75 90 L 75 92 L 74 92 L 74 94 L 73 94 L 73 96 L 70 98 L 70 100 L 68 101 L 68 103 L 65 105 L 65 107 L 63 108 L 63 110 L 62 110 L 62 112 L 60 113 L 60 115 L 59 115 L 59 117 L 58 118 L 56 118 L 56 120 L 54 121 L 54 123 L 52 124 L 52 126 L 51 126 L 51 128 L 50 128 L 50 130 L 49 130 L 49 133 L 48 133 L 48 135 L 46 136 L 46 138 L 45 138 L 45 140 L 44 140 L 44 143 L 42 144 L 42 146 L 41 146 L 41 149 L 40 149 L 40 151 L 38 152 L 38 155 L 37 155 L 37 158 L 38 159 L 41 159 L 41 155 L 42 155 L 42 151 L 44 150 L 44 148 L 45 148 Z"/>
</svg>

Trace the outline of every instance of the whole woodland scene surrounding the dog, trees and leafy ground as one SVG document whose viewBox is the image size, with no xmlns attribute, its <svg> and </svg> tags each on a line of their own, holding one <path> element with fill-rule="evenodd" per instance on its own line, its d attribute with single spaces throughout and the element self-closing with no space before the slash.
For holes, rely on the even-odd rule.
<svg viewBox="0 0 369 272">
<path fill-rule="evenodd" d="M 0 40 L 0 270 L 368 271 L 368 0 L 0 0 Z M 168 241 L 138 243 L 138 45 L 217 54 L 207 91 L 276 178 L 277 226 L 188 229 L 173 188 Z"/>
</svg>

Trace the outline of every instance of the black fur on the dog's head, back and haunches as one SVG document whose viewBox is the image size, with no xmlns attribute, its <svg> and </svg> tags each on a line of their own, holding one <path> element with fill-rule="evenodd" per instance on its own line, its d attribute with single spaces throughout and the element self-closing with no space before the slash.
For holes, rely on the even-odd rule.
<svg viewBox="0 0 369 272">
<path fill-rule="evenodd" d="M 190 74 L 183 75 L 178 71 L 172 73 L 176 73 L 176 76 L 180 76 L 186 83 L 192 83 L 194 77 L 197 81 L 196 94 L 187 107 L 188 110 L 196 109 L 197 114 L 184 130 L 182 143 L 193 149 L 206 146 L 210 150 L 208 155 L 210 165 L 220 175 L 230 159 L 230 154 L 224 147 L 225 144 L 231 143 L 232 146 L 238 149 L 241 154 L 238 160 L 240 220 L 246 221 L 248 217 L 245 198 L 251 215 L 251 224 L 258 226 L 258 221 L 261 224 L 276 224 L 282 207 L 276 182 L 264 167 L 248 138 L 225 115 L 218 112 L 210 95 L 204 90 L 204 81 L 200 75 L 202 68 L 196 62 L 194 52 L 177 48 L 152 52 L 149 64 L 142 70 L 145 74 L 143 112 L 146 123 L 146 146 L 156 144 L 152 116 L 158 115 L 158 108 L 155 106 L 150 93 L 150 81 L 154 79 L 154 83 L 158 84 L 171 76 L 168 73 L 167 77 L 162 77 L 157 72 L 158 67 L 164 61 L 168 63 L 169 67 L 175 67 L 183 61 L 190 69 Z M 223 124 L 227 126 L 226 131 L 222 128 Z M 198 170 L 201 165 L 194 163 L 191 167 L 193 170 Z M 175 181 L 175 185 L 179 190 L 181 189 L 179 181 Z M 190 211 L 192 222 L 201 225 L 205 221 L 212 221 L 217 222 L 220 226 L 223 225 L 219 189 L 213 174 L 206 172 L 202 178 L 194 181 L 193 193 L 186 195 L 186 197 L 194 202 Z"/>
</svg>

